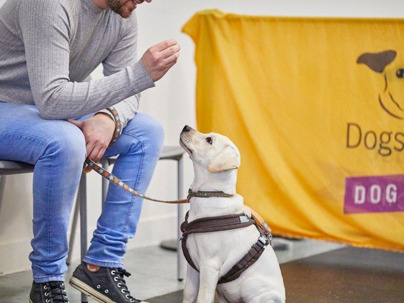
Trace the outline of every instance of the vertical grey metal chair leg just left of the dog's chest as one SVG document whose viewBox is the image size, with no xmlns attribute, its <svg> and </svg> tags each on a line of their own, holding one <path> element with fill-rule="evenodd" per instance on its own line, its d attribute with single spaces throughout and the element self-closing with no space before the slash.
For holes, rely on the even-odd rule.
<svg viewBox="0 0 404 303">
<path fill-rule="evenodd" d="M 183 158 L 181 157 L 178 160 L 178 182 L 177 182 L 177 192 L 178 192 L 178 199 L 181 199 L 182 195 L 182 190 L 183 190 Z M 182 232 L 181 232 L 181 223 L 184 220 L 185 217 L 185 205 L 183 204 L 178 204 L 177 207 L 178 210 L 178 239 L 181 237 Z M 182 253 L 182 246 L 181 246 L 181 241 L 177 242 L 177 276 L 178 276 L 178 281 L 182 281 L 185 277 L 186 274 L 186 260 L 185 257 Z"/>
</svg>

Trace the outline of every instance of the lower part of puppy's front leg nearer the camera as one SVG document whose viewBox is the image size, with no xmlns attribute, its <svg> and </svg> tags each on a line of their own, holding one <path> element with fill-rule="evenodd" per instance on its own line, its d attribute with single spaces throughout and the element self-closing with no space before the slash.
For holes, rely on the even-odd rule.
<svg viewBox="0 0 404 303">
<path fill-rule="evenodd" d="M 199 293 L 197 303 L 212 303 L 215 298 L 216 286 L 219 280 L 219 271 L 208 264 L 200 265 Z"/>
</svg>

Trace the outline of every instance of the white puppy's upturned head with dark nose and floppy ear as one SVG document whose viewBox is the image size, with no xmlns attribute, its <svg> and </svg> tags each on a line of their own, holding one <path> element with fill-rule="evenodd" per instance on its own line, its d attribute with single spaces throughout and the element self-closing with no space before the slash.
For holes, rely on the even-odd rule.
<svg viewBox="0 0 404 303">
<path fill-rule="evenodd" d="M 207 172 L 220 173 L 240 166 L 236 145 L 221 134 L 203 134 L 185 125 L 180 134 L 180 145 L 194 165 Z"/>
</svg>

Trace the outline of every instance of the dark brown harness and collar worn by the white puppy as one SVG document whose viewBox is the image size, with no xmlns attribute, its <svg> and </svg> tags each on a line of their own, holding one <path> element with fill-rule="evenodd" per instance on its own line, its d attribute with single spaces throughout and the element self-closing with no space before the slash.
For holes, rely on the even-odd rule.
<svg viewBox="0 0 404 303">
<path fill-rule="evenodd" d="M 188 199 L 190 197 L 231 197 L 232 194 L 227 194 L 222 191 L 197 191 L 192 192 L 190 189 L 188 191 Z M 244 228 L 250 225 L 255 225 L 260 232 L 260 237 L 257 242 L 252 245 L 248 250 L 247 254 L 241 258 L 224 276 L 219 278 L 218 284 L 231 282 L 237 279 L 248 267 L 254 264 L 258 258 L 264 252 L 265 246 L 271 243 L 272 235 L 271 230 L 265 221 L 260 222 L 256 216 L 252 215 L 252 218 L 244 213 L 217 216 L 217 217 L 207 217 L 199 218 L 188 223 L 188 213 L 185 215 L 185 221 L 181 224 L 182 237 L 181 240 L 182 251 L 184 257 L 188 264 L 197 272 L 199 270 L 193 263 L 191 256 L 189 255 L 188 248 L 186 247 L 186 239 L 189 234 L 192 233 L 205 233 L 205 232 L 215 232 L 223 230 L 231 230 L 237 228 Z"/>
</svg>

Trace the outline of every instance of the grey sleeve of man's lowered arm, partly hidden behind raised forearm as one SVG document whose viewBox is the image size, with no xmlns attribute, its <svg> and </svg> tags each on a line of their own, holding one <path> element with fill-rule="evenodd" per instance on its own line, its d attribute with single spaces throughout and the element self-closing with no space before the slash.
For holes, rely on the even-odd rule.
<svg viewBox="0 0 404 303">
<path fill-rule="evenodd" d="M 126 66 L 131 66 L 136 63 L 137 56 L 137 20 L 135 12 L 127 20 L 125 24 L 127 28 L 124 30 L 122 39 L 115 45 L 112 52 L 103 62 L 104 75 L 110 76 Z M 140 93 L 130 96 L 116 104 L 114 108 L 117 110 L 122 127 L 125 127 L 128 122 L 134 117 L 139 108 Z M 108 110 L 100 112 L 110 114 Z"/>
</svg>

